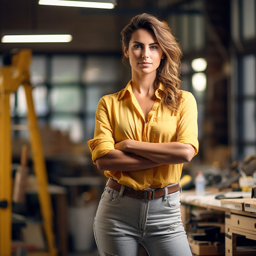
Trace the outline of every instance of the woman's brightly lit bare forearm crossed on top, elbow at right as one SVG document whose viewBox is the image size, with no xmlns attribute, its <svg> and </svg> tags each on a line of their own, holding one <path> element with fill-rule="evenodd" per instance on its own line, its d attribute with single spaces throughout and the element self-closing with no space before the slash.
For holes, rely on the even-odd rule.
<svg viewBox="0 0 256 256">
<path fill-rule="evenodd" d="M 148 158 L 160 164 L 181 164 L 190 162 L 195 154 L 193 146 L 180 142 L 150 143 L 124 140 L 116 143 L 115 148 Z"/>
</svg>

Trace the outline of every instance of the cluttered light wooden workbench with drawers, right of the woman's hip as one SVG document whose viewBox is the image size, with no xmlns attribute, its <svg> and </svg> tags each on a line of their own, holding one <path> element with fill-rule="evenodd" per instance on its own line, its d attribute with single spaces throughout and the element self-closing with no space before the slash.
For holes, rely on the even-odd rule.
<svg viewBox="0 0 256 256">
<path fill-rule="evenodd" d="M 225 195 L 226 197 L 243 196 L 244 198 L 215 199 L 218 195 Z M 225 213 L 226 256 L 255 256 L 256 242 L 253 247 L 236 246 L 236 235 L 243 235 L 256 241 L 256 199 L 250 197 L 250 192 L 206 192 L 203 196 L 197 196 L 195 191 L 183 191 L 180 199 L 181 204 L 185 207 L 199 206 Z"/>
</svg>

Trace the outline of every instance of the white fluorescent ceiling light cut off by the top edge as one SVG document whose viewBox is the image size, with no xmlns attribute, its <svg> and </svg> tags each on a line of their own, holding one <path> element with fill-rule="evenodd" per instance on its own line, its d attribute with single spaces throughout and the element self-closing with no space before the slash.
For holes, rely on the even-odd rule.
<svg viewBox="0 0 256 256">
<path fill-rule="evenodd" d="M 101 8 L 113 9 L 115 7 L 113 1 L 104 2 L 87 2 L 87 1 L 68 1 L 68 0 L 39 0 L 41 5 L 57 5 L 57 6 L 71 6 L 71 7 L 87 7 L 87 8 Z"/>
</svg>

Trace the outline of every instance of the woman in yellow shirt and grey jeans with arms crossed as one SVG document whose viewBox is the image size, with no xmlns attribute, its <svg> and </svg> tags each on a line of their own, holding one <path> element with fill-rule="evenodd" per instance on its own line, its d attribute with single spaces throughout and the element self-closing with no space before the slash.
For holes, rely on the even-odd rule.
<svg viewBox="0 0 256 256">
<path fill-rule="evenodd" d="M 94 220 L 100 255 L 191 256 L 181 223 L 182 165 L 198 151 L 197 107 L 179 90 L 181 51 L 166 22 L 139 14 L 122 30 L 132 79 L 100 99 L 94 164 L 109 178 Z"/>
</svg>

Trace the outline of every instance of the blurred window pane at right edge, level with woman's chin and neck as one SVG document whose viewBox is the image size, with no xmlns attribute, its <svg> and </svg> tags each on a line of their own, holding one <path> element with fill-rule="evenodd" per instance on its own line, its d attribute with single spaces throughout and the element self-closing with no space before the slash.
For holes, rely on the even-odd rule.
<svg viewBox="0 0 256 256">
<path fill-rule="evenodd" d="M 243 58 L 243 89 L 244 95 L 256 94 L 256 58 L 247 55 Z"/>
</svg>

